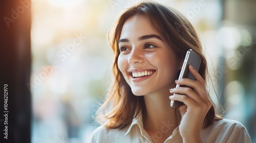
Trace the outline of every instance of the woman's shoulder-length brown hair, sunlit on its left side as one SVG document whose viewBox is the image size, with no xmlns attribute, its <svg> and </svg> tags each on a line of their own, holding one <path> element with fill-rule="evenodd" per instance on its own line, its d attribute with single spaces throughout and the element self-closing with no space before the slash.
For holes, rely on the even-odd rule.
<svg viewBox="0 0 256 143">
<path fill-rule="evenodd" d="M 184 59 L 189 49 L 199 53 L 202 56 L 199 74 L 204 80 L 206 79 L 207 63 L 202 53 L 201 42 L 195 29 L 184 15 L 174 8 L 168 8 L 155 2 L 143 2 L 125 9 L 108 33 L 109 42 L 115 55 L 113 63 L 114 80 L 105 102 L 96 112 L 97 121 L 107 128 L 124 128 L 131 124 L 133 118 L 137 117 L 140 112 L 142 117 L 145 115 L 144 97 L 135 96 L 132 93 L 130 86 L 126 83 L 117 66 L 120 54 L 118 40 L 121 30 L 124 22 L 134 15 L 143 15 L 149 18 L 153 27 L 164 36 L 179 58 Z M 219 119 L 220 117 L 217 117 L 215 113 L 215 104 L 212 102 L 212 107 L 205 116 L 203 128 L 212 125 L 215 120 Z M 179 125 L 180 120 L 181 115 L 176 110 L 176 126 Z"/>
</svg>

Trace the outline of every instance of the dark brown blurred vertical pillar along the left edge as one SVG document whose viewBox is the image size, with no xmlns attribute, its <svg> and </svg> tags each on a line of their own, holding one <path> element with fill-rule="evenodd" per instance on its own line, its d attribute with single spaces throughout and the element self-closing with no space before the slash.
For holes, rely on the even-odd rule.
<svg viewBox="0 0 256 143">
<path fill-rule="evenodd" d="M 29 0 L 0 1 L 0 142 L 31 142 L 30 29 Z"/>
</svg>

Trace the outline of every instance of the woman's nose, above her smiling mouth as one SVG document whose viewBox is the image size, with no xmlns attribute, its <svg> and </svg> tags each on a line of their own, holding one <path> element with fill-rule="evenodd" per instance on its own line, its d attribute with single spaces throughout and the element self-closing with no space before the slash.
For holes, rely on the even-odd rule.
<svg viewBox="0 0 256 143">
<path fill-rule="evenodd" d="M 130 64 L 142 63 L 144 61 L 143 51 L 133 49 L 128 58 Z"/>
</svg>

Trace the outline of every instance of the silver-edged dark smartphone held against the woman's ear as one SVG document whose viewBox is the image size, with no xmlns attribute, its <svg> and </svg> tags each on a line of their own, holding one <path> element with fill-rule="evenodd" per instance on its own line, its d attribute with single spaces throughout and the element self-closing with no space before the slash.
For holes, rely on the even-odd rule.
<svg viewBox="0 0 256 143">
<path fill-rule="evenodd" d="M 196 78 L 193 76 L 193 74 L 189 71 L 188 69 L 188 65 L 192 65 L 197 71 L 199 70 L 200 64 L 202 61 L 202 57 L 196 53 L 195 51 L 189 49 L 186 53 L 181 71 L 180 71 L 180 75 L 179 75 L 179 80 L 182 78 L 187 78 L 187 79 L 191 79 L 191 80 L 196 80 Z M 184 85 L 176 85 L 176 88 L 178 87 L 186 87 Z M 172 108 L 179 108 L 181 105 L 183 105 L 183 102 L 180 101 L 170 101 L 170 107 Z"/>
</svg>

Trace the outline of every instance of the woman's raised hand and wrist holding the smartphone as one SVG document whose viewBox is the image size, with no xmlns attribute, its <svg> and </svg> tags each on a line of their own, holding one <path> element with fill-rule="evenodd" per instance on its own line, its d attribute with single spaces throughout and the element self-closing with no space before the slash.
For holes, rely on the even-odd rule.
<svg viewBox="0 0 256 143">
<path fill-rule="evenodd" d="M 208 98 L 205 81 L 201 75 L 191 65 L 189 65 L 189 70 L 196 80 L 185 78 L 176 80 L 177 84 L 186 85 L 187 87 L 170 89 L 170 93 L 175 93 L 175 95 L 170 96 L 169 99 L 184 103 L 179 107 L 182 116 L 179 131 L 183 142 L 202 142 L 200 131 L 204 118 L 212 104 Z"/>
</svg>

